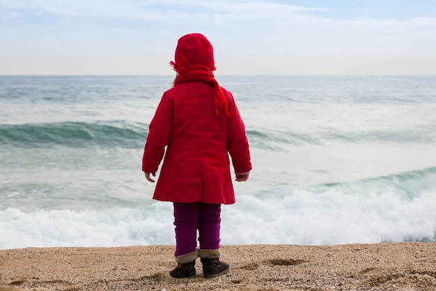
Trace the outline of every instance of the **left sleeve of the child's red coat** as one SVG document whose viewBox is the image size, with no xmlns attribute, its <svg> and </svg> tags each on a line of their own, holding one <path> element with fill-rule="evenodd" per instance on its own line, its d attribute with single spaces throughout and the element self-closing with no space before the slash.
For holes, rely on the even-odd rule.
<svg viewBox="0 0 436 291">
<path fill-rule="evenodd" d="M 173 103 L 169 94 L 165 92 L 148 127 L 142 157 L 143 172 L 157 172 L 157 168 L 164 157 L 165 147 L 169 144 L 171 138 L 172 119 Z"/>
</svg>

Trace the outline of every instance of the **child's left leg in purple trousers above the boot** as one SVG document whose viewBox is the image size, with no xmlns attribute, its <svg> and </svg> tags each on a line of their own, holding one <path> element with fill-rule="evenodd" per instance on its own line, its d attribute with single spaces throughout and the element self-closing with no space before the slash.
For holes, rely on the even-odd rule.
<svg viewBox="0 0 436 291">
<path fill-rule="evenodd" d="M 199 203 L 174 202 L 173 205 L 174 225 L 176 225 L 176 252 L 174 256 L 178 261 L 177 258 L 180 256 L 187 255 L 190 258 L 191 254 L 196 252 Z"/>
</svg>

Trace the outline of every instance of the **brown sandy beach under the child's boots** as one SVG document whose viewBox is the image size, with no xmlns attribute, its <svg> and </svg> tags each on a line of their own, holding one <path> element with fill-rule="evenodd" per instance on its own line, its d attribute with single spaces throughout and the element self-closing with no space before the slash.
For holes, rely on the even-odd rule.
<svg viewBox="0 0 436 291">
<path fill-rule="evenodd" d="M 0 290 L 436 290 L 436 243 L 222 246 L 209 279 L 171 278 L 173 248 L 2 250 Z"/>
</svg>

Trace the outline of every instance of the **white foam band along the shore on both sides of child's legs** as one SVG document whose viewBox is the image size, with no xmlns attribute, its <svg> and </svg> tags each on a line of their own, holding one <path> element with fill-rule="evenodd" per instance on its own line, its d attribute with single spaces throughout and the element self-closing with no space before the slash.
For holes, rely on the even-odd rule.
<svg viewBox="0 0 436 291">
<path fill-rule="evenodd" d="M 222 244 L 435 241 L 435 188 L 358 181 L 240 195 L 222 207 Z M 174 244 L 171 203 L 104 211 L 0 211 L 0 248 Z"/>
</svg>

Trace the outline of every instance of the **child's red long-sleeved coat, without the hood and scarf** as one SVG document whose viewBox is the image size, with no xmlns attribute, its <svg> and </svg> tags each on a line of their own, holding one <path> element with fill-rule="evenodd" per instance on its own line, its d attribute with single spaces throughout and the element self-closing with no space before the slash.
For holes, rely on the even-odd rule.
<svg viewBox="0 0 436 291">
<path fill-rule="evenodd" d="M 166 91 L 150 122 L 143 172 L 157 172 L 166 154 L 153 199 L 171 202 L 235 203 L 231 155 L 236 173 L 251 170 L 244 123 L 230 91 L 222 88 L 229 117 L 217 117 L 205 82 Z"/>
</svg>

